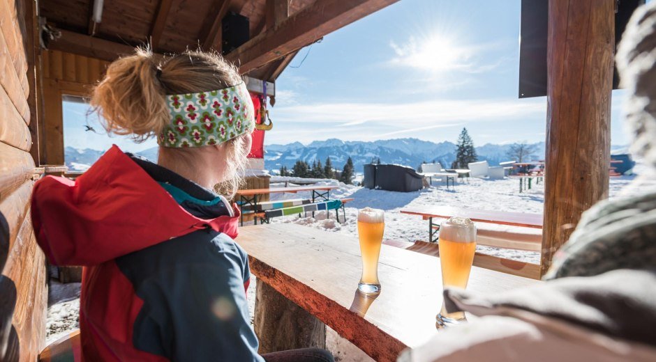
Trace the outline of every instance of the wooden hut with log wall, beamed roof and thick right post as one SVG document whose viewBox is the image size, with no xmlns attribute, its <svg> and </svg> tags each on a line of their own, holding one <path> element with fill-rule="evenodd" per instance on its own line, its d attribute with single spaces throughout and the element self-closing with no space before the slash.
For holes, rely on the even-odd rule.
<svg viewBox="0 0 656 362">
<path fill-rule="evenodd" d="M 0 360 L 35 361 L 45 343 L 29 197 L 35 180 L 64 171 L 63 95 L 87 95 L 147 41 L 161 54 L 225 50 L 243 74 L 274 82 L 301 47 L 395 1 L 0 0 Z M 543 271 L 609 187 L 615 3 L 549 0 Z M 248 19 L 245 38 L 223 29 L 228 15 Z"/>
</svg>

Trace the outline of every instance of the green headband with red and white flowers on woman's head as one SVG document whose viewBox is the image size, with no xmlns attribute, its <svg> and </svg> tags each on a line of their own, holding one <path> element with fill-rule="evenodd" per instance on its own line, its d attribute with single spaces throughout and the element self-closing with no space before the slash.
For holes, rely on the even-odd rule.
<svg viewBox="0 0 656 362">
<path fill-rule="evenodd" d="M 255 112 L 246 84 L 217 91 L 167 95 L 171 122 L 158 137 L 163 147 L 216 145 L 253 132 Z"/>
</svg>

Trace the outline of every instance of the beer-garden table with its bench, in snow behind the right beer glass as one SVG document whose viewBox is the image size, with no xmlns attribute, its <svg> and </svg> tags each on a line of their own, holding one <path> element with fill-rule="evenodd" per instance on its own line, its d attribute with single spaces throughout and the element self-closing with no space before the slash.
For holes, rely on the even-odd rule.
<svg viewBox="0 0 656 362">
<path fill-rule="evenodd" d="M 463 209 L 451 206 L 422 206 L 409 207 L 401 210 L 402 214 L 418 215 L 428 220 L 428 242 L 435 240 L 439 226 L 433 219 L 448 219 L 449 217 L 468 217 L 479 223 L 493 223 L 504 226 L 519 226 L 522 228 L 542 229 L 543 217 L 541 214 L 528 214 L 523 212 L 502 212 L 491 210 Z M 521 233 L 516 230 L 477 230 L 479 244 L 495 246 L 505 249 L 519 249 L 527 251 L 540 251 L 542 235 L 539 233 Z"/>
</svg>

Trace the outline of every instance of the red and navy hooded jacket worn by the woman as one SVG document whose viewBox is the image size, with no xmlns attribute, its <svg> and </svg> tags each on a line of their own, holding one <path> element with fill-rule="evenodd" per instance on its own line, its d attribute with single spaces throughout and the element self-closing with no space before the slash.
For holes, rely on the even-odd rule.
<svg viewBox="0 0 656 362">
<path fill-rule="evenodd" d="M 180 202 L 161 184 L 181 191 Z M 84 265 L 80 330 L 89 361 L 260 361 L 244 290 L 239 210 L 117 146 L 75 181 L 36 183 L 32 221 L 54 265 Z M 225 316 L 216 300 L 225 299 Z M 217 315 L 219 317 L 217 317 Z M 196 338 L 200 333 L 207 338 Z"/>
</svg>

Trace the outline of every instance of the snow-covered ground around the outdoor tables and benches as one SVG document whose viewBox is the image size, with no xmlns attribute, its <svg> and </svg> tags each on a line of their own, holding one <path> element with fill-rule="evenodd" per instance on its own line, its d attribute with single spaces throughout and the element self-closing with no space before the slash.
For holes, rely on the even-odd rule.
<svg viewBox="0 0 656 362">
<path fill-rule="evenodd" d="M 622 176 L 611 178 L 609 197 L 620 197 L 626 194 L 625 187 L 634 180 L 635 176 Z M 654 178 L 652 178 L 654 180 Z M 283 217 L 274 219 L 276 223 L 298 223 L 311 228 L 319 228 L 331 233 L 345 233 L 357 236 L 357 210 L 362 207 L 375 207 L 385 210 L 385 238 L 406 239 L 410 241 L 425 240 L 428 236 L 426 221 L 420 217 L 401 214 L 405 207 L 422 205 L 452 205 L 482 210 L 503 210 L 512 212 L 542 213 L 544 204 L 544 184 L 534 185 L 529 191 L 519 193 L 519 181 L 481 180 L 470 178 L 468 181 L 457 182 L 455 187 L 445 187 L 439 181 L 433 182 L 433 187 L 421 191 L 401 193 L 382 190 L 370 190 L 362 187 L 346 185 L 336 180 L 322 180 L 318 184 L 334 184 L 338 189 L 331 191 L 331 198 L 355 198 L 346 207 L 346 221 L 338 223 L 335 214 L 331 212 L 330 218 L 325 212 L 318 212 L 315 217 Z M 290 184 L 290 186 L 292 186 Z M 651 184 L 648 187 L 656 187 Z M 639 192 L 643 188 L 633 189 Z M 272 199 L 310 197 L 309 193 L 299 194 L 272 194 Z M 539 254 L 527 251 L 512 251 L 478 246 L 483 253 L 497 255 L 502 258 L 523 260 L 539 263 Z M 51 286 L 51 301 L 54 303 L 48 309 L 47 316 L 47 342 L 56 340 L 59 336 L 77 328 L 77 311 L 80 303 L 78 285 Z M 248 300 L 253 315 L 255 304 L 255 281 L 249 288 Z M 336 335 L 334 331 L 328 333 L 329 349 L 339 356 L 341 361 L 371 361 L 357 347 Z"/>
</svg>

